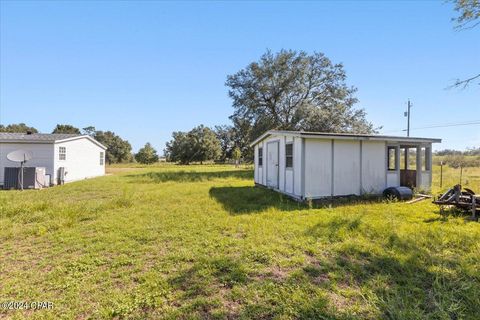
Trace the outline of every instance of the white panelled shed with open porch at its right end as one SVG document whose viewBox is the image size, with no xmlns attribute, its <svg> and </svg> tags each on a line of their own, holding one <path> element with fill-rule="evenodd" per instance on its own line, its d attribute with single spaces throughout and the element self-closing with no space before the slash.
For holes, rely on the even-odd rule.
<svg viewBox="0 0 480 320">
<path fill-rule="evenodd" d="M 429 190 L 436 142 L 441 140 L 271 130 L 251 144 L 255 183 L 297 199 L 381 194 L 398 186 Z"/>
</svg>

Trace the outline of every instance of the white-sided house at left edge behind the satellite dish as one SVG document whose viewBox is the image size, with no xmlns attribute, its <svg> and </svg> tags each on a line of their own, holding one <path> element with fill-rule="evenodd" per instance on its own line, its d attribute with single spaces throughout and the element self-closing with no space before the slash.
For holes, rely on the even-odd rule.
<svg viewBox="0 0 480 320">
<path fill-rule="evenodd" d="M 106 149 L 88 135 L 0 132 L 0 185 L 5 167 L 20 166 L 7 159 L 12 151 L 31 152 L 33 157 L 25 166 L 45 167 L 50 184 L 58 184 L 61 171 L 64 182 L 104 175 Z"/>
</svg>

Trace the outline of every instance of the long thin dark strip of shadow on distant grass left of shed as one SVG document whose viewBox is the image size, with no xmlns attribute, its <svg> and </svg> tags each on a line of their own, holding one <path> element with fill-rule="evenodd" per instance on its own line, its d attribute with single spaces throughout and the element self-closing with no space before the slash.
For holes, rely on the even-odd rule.
<svg viewBox="0 0 480 320">
<path fill-rule="evenodd" d="M 218 172 L 173 171 L 173 172 L 147 172 L 144 174 L 131 174 L 126 176 L 135 183 L 162 183 L 162 182 L 201 182 L 215 179 L 253 179 L 252 170 L 233 170 Z"/>
</svg>

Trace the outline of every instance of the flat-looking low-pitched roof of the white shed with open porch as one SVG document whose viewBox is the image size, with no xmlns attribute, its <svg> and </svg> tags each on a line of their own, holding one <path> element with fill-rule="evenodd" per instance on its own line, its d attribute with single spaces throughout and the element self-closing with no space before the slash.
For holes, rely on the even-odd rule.
<svg viewBox="0 0 480 320">
<path fill-rule="evenodd" d="M 260 141 L 271 135 L 289 135 L 311 139 L 339 139 L 339 140 L 372 140 L 372 141 L 392 141 L 400 143 L 440 143 L 442 139 L 420 138 L 420 137 L 399 137 L 383 136 L 373 134 L 354 134 L 354 133 L 332 133 L 332 132 L 311 132 L 311 131 L 287 131 L 287 130 L 269 130 L 253 141 L 250 146 L 254 146 Z"/>
</svg>

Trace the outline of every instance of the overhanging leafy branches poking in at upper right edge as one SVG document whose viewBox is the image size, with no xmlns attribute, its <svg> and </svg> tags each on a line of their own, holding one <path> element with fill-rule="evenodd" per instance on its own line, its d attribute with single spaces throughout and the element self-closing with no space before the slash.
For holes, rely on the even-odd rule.
<svg viewBox="0 0 480 320">
<path fill-rule="evenodd" d="M 456 22 L 457 30 L 472 29 L 480 24 L 480 1 L 479 0 L 453 0 L 455 11 L 459 13 L 452 20 Z M 480 73 L 467 79 L 457 79 L 452 87 L 465 89 L 472 82 L 480 80 Z M 480 85 L 480 82 L 477 83 Z"/>
</svg>

